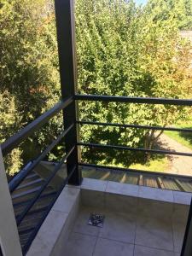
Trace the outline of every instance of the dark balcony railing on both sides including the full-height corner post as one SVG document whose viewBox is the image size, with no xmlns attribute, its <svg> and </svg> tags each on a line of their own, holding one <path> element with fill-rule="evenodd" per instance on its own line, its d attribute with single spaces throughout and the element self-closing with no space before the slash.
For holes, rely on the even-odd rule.
<svg viewBox="0 0 192 256">
<path fill-rule="evenodd" d="M 61 193 L 61 190 L 67 183 L 78 185 L 82 181 L 82 173 L 79 166 L 95 166 L 97 168 L 108 168 L 115 170 L 124 170 L 125 172 L 139 172 L 146 171 L 136 169 L 123 169 L 113 166 L 96 166 L 92 163 L 85 164 L 79 159 L 79 148 L 113 148 L 115 150 L 128 150 L 134 152 L 144 152 L 150 154 L 174 154 L 192 157 L 192 154 L 175 152 L 169 150 L 148 149 L 148 148 L 131 148 L 126 145 L 109 145 L 98 143 L 82 143 L 78 137 L 78 125 L 102 125 L 113 127 L 125 127 L 125 128 L 137 128 L 137 129 L 150 129 L 150 130 L 165 130 L 165 131 L 183 131 L 192 132 L 192 129 L 181 129 L 172 127 L 160 127 L 150 125 L 129 125 L 129 124 L 111 124 L 101 122 L 91 122 L 86 120 L 79 120 L 77 116 L 77 105 L 79 101 L 100 101 L 100 102 L 123 102 L 123 103 L 138 103 L 138 104 L 168 104 L 176 106 L 192 106 L 192 100 L 181 99 L 163 99 L 163 98 L 142 98 L 142 97 L 130 97 L 130 96 L 96 96 L 96 95 L 78 95 L 76 93 L 76 58 L 75 58 L 75 43 L 74 43 L 74 20 L 73 20 L 73 1 L 69 0 L 55 0 L 55 14 L 57 25 L 57 37 L 58 37 L 58 49 L 60 59 L 61 70 L 61 102 L 58 102 L 54 108 L 49 109 L 48 112 L 35 119 L 31 124 L 27 125 L 13 137 L 10 137 L 8 141 L 1 145 L 3 156 L 9 154 L 9 152 L 20 145 L 27 137 L 30 137 L 35 131 L 38 131 L 49 119 L 53 118 L 57 113 L 63 112 L 64 119 L 64 131 L 57 137 L 52 143 L 49 144 L 44 151 L 38 155 L 36 160 L 32 161 L 32 164 L 26 166 L 21 170 L 13 181 L 9 183 L 10 193 L 13 194 L 20 183 L 35 169 L 38 164 L 44 160 L 45 156 L 55 148 L 55 146 L 65 139 L 66 154 L 64 154 L 60 162 L 56 163 L 54 171 L 44 180 L 44 183 L 40 186 L 38 191 L 32 197 L 32 199 L 26 203 L 20 215 L 16 217 L 16 223 L 18 227 L 22 223 L 22 220 L 26 217 L 26 214 L 30 212 L 34 204 L 38 201 L 39 197 L 43 195 L 44 190 L 48 187 L 49 183 L 54 179 L 55 175 L 61 169 L 63 163 L 67 163 L 67 178 L 63 178 L 61 187 L 57 190 L 55 197 L 49 202 L 49 207 L 44 212 L 44 215 L 39 220 L 36 228 L 32 230 L 32 233 L 28 237 L 26 244 L 22 247 L 25 254 L 30 247 L 32 240 L 38 233 L 38 230 L 43 224 L 44 219 L 47 217 L 49 210 L 54 205 L 56 199 Z M 160 174 L 159 172 L 150 172 L 154 175 Z M 162 174 L 162 173 L 161 173 Z M 164 174 L 165 175 L 165 174 Z M 187 240 L 187 238 L 186 238 Z M 187 254 L 186 254 L 187 255 Z"/>
</svg>

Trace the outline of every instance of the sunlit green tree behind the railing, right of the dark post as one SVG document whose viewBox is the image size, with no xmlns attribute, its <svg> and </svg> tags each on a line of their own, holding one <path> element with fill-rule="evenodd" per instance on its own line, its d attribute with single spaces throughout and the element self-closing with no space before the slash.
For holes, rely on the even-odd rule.
<svg viewBox="0 0 192 256">
<path fill-rule="evenodd" d="M 141 9 L 133 1 L 77 2 L 80 93 L 189 97 L 189 42 L 179 38 L 172 15 L 162 19 L 159 2 L 153 3 Z M 80 104 L 81 119 L 120 124 L 172 125 L 185 112 L 175 106 Z M 130 147 L 152 148 L 156 139 L 153 131 L 88 125 L 81 127 L 80 134 L 84 142 Z M 82 155 L 88 162 L 124 166 L 145 160 L 140 154 L 106 151 L 84 148 Z"/>
</svg>

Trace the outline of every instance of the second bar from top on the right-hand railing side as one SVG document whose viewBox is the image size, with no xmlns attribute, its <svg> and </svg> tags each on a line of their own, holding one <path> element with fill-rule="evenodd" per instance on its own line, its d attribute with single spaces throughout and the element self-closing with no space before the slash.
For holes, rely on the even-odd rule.
<svg viewBox="0 0 192 256">
<path fill-rule="evenodd" d="M 79 125 L 102 125 L 102 126 L 113 126 L 113 127 L 125 127 L 125 128 L 138 128 L 138 129 L 149 129 L 157 131 L 179 131 L 179 132 L 192 132 L 192 129 L 185 128 L 172 128 L 172 127 L 160 127 L 160 126 L 150 126 L 150 125 L 124 125 L 124 124 L 112 124 L 112 123 L 102 123 L 102 122 L 90 122 L 90 121 L 77 121 Z"/>
</svg>

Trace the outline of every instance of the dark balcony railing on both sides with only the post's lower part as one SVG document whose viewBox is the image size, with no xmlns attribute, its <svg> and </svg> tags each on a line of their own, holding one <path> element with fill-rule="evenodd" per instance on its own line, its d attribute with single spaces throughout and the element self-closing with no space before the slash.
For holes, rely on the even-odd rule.
<svg viewBox="0 0 192 256">
<path fill-rule="evenodd" d="M 76 101 L 105 101 L 105 102 L 135 102 L 135 103 L 154 103 L 154 104 L 172 104 L 172 105 L 183 105 L 183 106 L 192 106 L 191 100 L 177 100 L 177 99 L 160 99 L 160 98 L 137 98 L 137 97 L 120 97 L 120 96 L 83 96 L 83 95 L 74 95 L 72 97 L 68 97 L 66 100 L 63 100 L 61 102 L 58 102 L 54 108 L 49 109 L 46 113 L 44 113 L 42 116 L 40 116 L 38 119 L 35 119 L 31 124 L 27 125 L 25 128 L 23 128 L 21 131 L 19 131 L 15 136 L 10 137 L 9 140 L 7 140 L 5 143 L 2 144 L 2 151 L 3 156 L 8 154 L 12 149 L 18 147 L 20 143 L 22 143 L 27 137 L 30 137 L 35 131 L 38 131 L 45 123 L 49 121 L 49 119 L 53 118 L 57 113 L 61 111 L 65 111 L 66 108 L 69 108 L 70 105 L 76 106 Z M 77 103 L 77 102 L 76 102 Z M 64 119 L 65 120 L 65 119 Z M 73 120 L 73 119 L 72 119 Z M 54 199 L 49 203 L 49 207 L 44 212 L 44 216 L 41 218 L 41 220 L 38 222 L 38 225 L 36 228 L 32 231 L 32 234 L 29 236 L 25 247 L 23 247 L 23 253 L 26 253 L 28 247 L 32 243 L 32 240 L 36 236 L 41 224 L 43 224 L 44 219 L 47 217 L 49 210 L 51 207 L 53 207 L 56 199 L 60 195 L 62 189 L 65 187 L 67 183 L 73 183 L 73 184 L 80 184 L 81 183 L 81 169 L 79 166 L 91 166 L 96 168 L 108 168 L 108 169 L 114 169 L 114 170 L 120 170 L 125 172 L 139 172 L 139 173 L 146 173 L 146 171 L 143 170 L 137 170 L 137 169 L 124 169 L 124 168 L 117 168 L 113 166 L 97 166 L 93 164 L 85 164 L 73 157 L 72 160 L 70 160 L 70 157 L 73 156 L 73 154 L 79 154 L 79 147 L 91 147 L 91 148 L 113 148 L 115 150 L 129 150 L 134 152 L 148 152 L 151 154 L 175 154 L 175 155 L 184 155 L 191 157 L 192 154 L 189 153 L 183 153 L 183 152 L 175 152 L 170 150 L 157 150 L 157 149 L 148 149 L 148 148 L 130 148 L 126 147 L 125 145 L 108 145 L 108 144 L 96 144 L 96 143 L 81 143 L 79 142 L 79 138 L 77 137 L 77 133 L 74 132 L 74 127 L 78 125 L 110 125 L 110 126 L 120 126 L 120 127 L 134 127 L 134 128 L 145 128 L 145 129 L 155 129 L 155 130 L 162 130 L 165 129 L 163 127 L 156 127 L 156 126 L 148 126 L 148 125 L 120 125 L 120 124 L 108 124 L 108 123 L 97 123 L 97 122 L 88 122 L 83 120 L 74 119 L 73 121 L 67 120 L 67 125 L 65 127 L 65 130 L 61 132 L 61 134 L 52 142 L 49 144 L 47 148 L 44 149 L 44 151 L 38 156 L 36 160 L 32 161 L 31 165 L 26 166 L 23 170 L 21 170 L 16 178 L 13 179 L 9 183 L 9 191 L 10 193 L 14 193 L 15 189 L 18 188 L 20 183 L 32 172 L 32 170 L 35 169 L 38 164 L 44 160 L 45 156 L 49 154 L 49 152 L 55 148 L 55 146 L 61 142 L 61 139 L 66 139 L 66 148 L 67 153 L 63 155 L 61 160 L 56 163 L 55 168 L 51 175 L 47 177 L 44 180 L 44 183 L 38 189 L 38 192 L 32 197 L 32 200 L 29 201 L 26 206 L 23 208 L 22 212 L 20 212 L 20 215 L 16 218 L 16 223 L 18 227 L 20 226 L 22 220 L 26 217 L 26 214 L 30 212 L 32 207 L 35 205 L 35 203 L 38 201 L 39 197 L 44 193 L 44 190 L 49 186 L 49 183 L 54 179 L 57 172 L 60 171 L 61 166 L 65 162 L 67 162 L 67 178 L 63 179 L 63 182 L 61 184 L 60 189 L 57 190 L 57 194 L 55 195 Z M 166 127 L 166 131 L 183 131 L 183 132 L 192 132 L 191 129 L 180 129 L 180 128 L 168 128 Z M 67 145 L 68 140 L 71 140 L 71 138 L 75 137 L 75 139 L 72 139 L 70 142 L 70 145 Z M 150 172 L 154 175 L 160 175 L 159 172 Z M 162 173 L 161 173 L 162 175 Z M 166 174 L 163 173 L 165 176 Z M 170 174 L 167 174 L 170 176 Z"/>
</svg>

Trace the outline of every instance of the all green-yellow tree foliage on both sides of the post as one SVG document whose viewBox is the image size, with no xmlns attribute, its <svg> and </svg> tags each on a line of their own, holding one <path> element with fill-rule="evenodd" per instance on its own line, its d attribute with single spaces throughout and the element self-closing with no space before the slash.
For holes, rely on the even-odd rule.
<svg viewBox="0 0 192 256">
<path fill-rule="evenodd" d="M 112 96 L 186 98 L 191 93 L 190 47 L 178 29 L 191 28 L 191 1 L 78 0 L 75 7 L 79 92 Z M 0 143 L 60 98 L 53 1 L 0 0 Z M 9 105 L 8 105 L 9 102 Z M 172 125 L 185 108 L 115 102 L 80 102 L 80 119 Z M 8 171 L 36 157 L 62 128 L 62 116 L 10 155 Z M 84 142 L 154 146 L 152 131 L 84 125 Z M 63 146 L 57 148 L 59 151 Z M 130 166 L 142 154 L 84 148 L 83 160 Z M 51 152 L 55 160 L 57 154 Z"/>
</svg>

